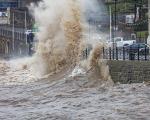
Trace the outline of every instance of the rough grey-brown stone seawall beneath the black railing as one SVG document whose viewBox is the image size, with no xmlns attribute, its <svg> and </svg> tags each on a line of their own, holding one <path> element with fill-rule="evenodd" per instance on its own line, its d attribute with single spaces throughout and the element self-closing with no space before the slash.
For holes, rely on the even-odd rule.
<svg viewBox="0 0 150 120">
<path fill-rule="evenodd" d="M 108 61 L 112 80 L 120 83 L 150 81 L 150 61 Z"/>
</svg>

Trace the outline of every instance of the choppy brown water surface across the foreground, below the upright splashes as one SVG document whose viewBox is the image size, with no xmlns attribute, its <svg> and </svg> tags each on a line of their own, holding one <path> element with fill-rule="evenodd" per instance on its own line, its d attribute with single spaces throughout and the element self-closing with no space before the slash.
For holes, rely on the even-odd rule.
<svg viewBox="0 0 150 120">
<path fill-rule="evenodd" d="M 150 119 L 148 84 L 107 87 L 82 74 L 51 81 L 8 62 L 0 66 L 0 120 Z"/>
</svg>

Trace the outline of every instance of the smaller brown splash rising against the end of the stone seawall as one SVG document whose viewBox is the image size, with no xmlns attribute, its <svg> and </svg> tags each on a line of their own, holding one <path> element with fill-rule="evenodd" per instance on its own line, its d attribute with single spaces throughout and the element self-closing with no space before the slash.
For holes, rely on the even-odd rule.
<svg viewBox="0 0 150 120">
<path fill-rule="evenodd" d="M 113 85 L 107 60 L 102 58 L 104 46 L 104 43 L 97 43 L 93 45 L 93 49 L 90 51 L 88 58 L 86 60 L 80 61 L 78 69 L 81 72 L 76 70 L 79 76 L 82 74 L 83 76 L 86 76 L 86 79 L 90 80 L 88 87 L 101 85 L 109 87 Z M 91 80 L 93 82 L 91 82 Z"/>
</svg>

